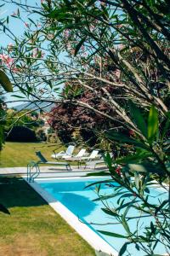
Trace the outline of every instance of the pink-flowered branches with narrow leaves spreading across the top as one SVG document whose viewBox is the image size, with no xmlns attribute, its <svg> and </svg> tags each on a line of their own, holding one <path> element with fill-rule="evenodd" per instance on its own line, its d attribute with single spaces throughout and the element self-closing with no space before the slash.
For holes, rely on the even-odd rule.
<svg viewBox="0 0 170 256">
<path fill-rule="evenodd" d="M 128 115 L 129 98 L 141 108 L 154 105 L 161 115 L 167 112 L 169 17 L 166 12 L 159 14 L 156 1 L 43 1 L 41 7 L 23 8 L 28 15 L 37 13 L 38 20 L 29 20 L 23 37 L 2 49 L 3 68 L 10 67 L 23 97 L 87 108 L 133 130 L 137 127 Z M 21 14 L 10 19 L 22 21 Z M 75 80 L 116 115 L 77 99 L 82 88 L 77 88 Z M 67 98 L 57 98 L 65 81 L 70 84 Z"/>
</svg>

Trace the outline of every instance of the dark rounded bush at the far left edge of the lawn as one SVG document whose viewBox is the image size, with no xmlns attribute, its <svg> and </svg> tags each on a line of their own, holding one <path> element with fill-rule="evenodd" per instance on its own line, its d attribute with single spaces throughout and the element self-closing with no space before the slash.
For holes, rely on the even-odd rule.
<svg viewBox="0 0 170 256">
<path fill-rule="evenodd" d="M 35 131 L 31 131 L 25 126 L 14 126 L 6 140 L 10 142 L 36 142 L 37 137 Z"/>
</svg>

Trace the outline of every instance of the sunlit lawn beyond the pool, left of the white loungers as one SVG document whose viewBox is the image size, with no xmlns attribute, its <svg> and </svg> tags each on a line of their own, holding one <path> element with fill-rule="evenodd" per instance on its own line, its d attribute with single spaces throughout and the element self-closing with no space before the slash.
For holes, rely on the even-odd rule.
<svg viewBox="0 0 170 256">
<path fill-rule="evenodd" d="M 0 153 L 0 167 L 22 167 L 31 160 L 37 160 L 36 151 L 41 151 L 48 160 L 52 160 L 50 155 L 59 145 L 49 143 L 5 143 Z M 58 151 L 63 150 L 60 147 Z"/>
</svg>

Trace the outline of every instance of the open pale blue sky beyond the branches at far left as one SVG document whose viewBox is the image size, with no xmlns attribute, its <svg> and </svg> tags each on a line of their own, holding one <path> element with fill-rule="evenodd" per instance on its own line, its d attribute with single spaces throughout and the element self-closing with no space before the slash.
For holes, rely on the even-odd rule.
<svg viewBox="0 0 170 256">
<path fill-rule="evenodd" d="M 21 3 L 25 3 L 26 0 L 21 1 Z M 29 0 L 27 3 L 30 5 L 35 5 L 35 3 L 40 4 L 41 0 Z M 20 3 L 20 1 L 18 1 Z M 3 1 L 0 0 L 0 5 L 3 4 Z M 7 16 L 9 17 L 9 28 L 10 30 L 14 33 L 15 36 L 20 37 L 22 33 L 25 31 L 26 26 L 23 24 L 22 21 L 19 19 L 11 17 L 14 13 L 17 12 L 17 6 L 14 3 L 5 3 L 3 7 L 0 7 L 0 20 L 3 18 L 6 18 Z M 21 12 L 22 17 L 24 17 L 24 20 L 27 20 L 26 13 Z M 36 18 L 37 15 L 34 15 Z M 13 43 L 11 38 L 8 38 L 3 32 L 0 32 L 0 42 L 1 46 L 6 47 L 8 44 Z M 13 93 L 6 93 L 5 98 L 6 101 L 13 101 L 16 98 L 12 97 Z M 14 103 L 9 103 L 8 107 L 14 107 L 16 105 L 19 105 L 20 103 L 14 102 Z"/>
</svg>

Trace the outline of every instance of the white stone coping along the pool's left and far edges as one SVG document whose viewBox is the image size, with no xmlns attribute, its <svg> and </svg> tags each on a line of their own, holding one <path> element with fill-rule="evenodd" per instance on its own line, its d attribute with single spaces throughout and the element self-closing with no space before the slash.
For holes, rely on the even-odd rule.
<svg viewBox="0 0 170 256">
<path fill-rule="evenodd" d="M 54 177 L 47 178 L 47 180 L 56 180 L 56 179 L 75 179 L 75 178 L 90 178 L 90 177 Z M 24 177 L 26 180 L 26 176 Z M 41 180 L 41 178 L 38 178 Z M 44 180 L 44 178 L 42 178 Z M 27 180 L 26 180 L 27 182 Z M 28 183 L 28 182 L 27 182 Z M 47 191 L 42 189 L 40 185 L 36 182 L 28 183 L 32 189 L 36 190 L 42 198 L 48 202 L 48 205 L 54 209 L 55 212 L 58 212 L 59 215 L 65 219 L 65 221 L 71 225 L 71 227 L 77 231 L 77 233 L 82 236 L 82 238 L 88 241 L 91 247 L 94 247 L 96 251 L 107 253 L 111 256 L 118 256 L 116 250 L 111 247 L 104 239 L 102 239 L 98 234 L 91 230 L 87 224 L 83 224 L 75 214 L 73 214 L 68 208 L 66 208 L 59 201 L 54 199 Z"/>
</svg>

